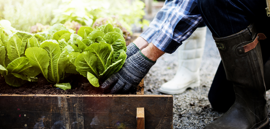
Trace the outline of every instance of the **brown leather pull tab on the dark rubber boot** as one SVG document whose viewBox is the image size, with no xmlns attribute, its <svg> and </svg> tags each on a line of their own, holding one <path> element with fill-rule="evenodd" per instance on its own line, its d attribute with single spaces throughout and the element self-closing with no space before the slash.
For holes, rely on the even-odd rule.
<svg viewBox="0 0 270 129">
<path fill-rule="evenodd" d="M 240 43 L 239 45 L 235 47 L 234 53 L 238 56 L 242 56 L 242 54 L 254 49 L 260 39 L 261 40 L 266 39 L 265 35 L 262 33 L 259 33 L 257 34 L 256 38 L 253 40 L 253 42 L 248 41 L 248 42 Z"/>
</svg>

